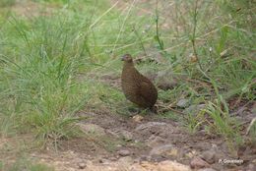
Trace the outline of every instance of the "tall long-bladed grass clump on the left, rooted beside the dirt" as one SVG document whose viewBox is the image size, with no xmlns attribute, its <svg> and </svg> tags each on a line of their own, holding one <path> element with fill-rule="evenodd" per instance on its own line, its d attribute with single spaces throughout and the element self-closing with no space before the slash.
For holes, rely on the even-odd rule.
<svg viewBox="0 0 256 171">
<path fill-rule="evenodd" d="M 77 32 L 70 28 L 73 20 L 64 20 L 59 16 L 28 23 L 13 18 L 8 26 L 15 34 L 9 42 L 16 49 L 7 48 L 1 56 L 2 104 L 12 106 L 1 111 L 6 116 L 5 128 L 12 121 L 22 131 L 34 128 L 43 139 L 59 140 L 68 137 L 73 123 L 80 120 L 75 113 L 90 96 L 76 74 L 86 59 L 76 48 L 82 41 L 76 41 Z"/>
</svg>

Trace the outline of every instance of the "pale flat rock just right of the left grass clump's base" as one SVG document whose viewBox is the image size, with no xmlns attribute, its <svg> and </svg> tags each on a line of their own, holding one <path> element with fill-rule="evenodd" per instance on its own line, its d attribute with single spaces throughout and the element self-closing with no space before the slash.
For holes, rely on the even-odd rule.
<svg viewBox="0 0 256 171">
<path fill-rule="evenodd" d="M 85 133 L 85 134 L 93 134 L 96 136 L 104 136 L 105 131 L 103 128 L 99 127 L 96 124 L 77 124 L 80 129 Z"/>
</svg>

